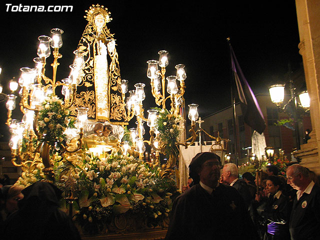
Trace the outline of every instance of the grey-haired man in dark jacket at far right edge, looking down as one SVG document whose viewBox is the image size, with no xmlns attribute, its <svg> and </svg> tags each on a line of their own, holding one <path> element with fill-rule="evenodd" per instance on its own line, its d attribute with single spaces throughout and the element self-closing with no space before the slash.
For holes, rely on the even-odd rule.
<svg viewBox="0 0 320 240">
<path fill-rule="evenodd" d="M 320 239 L 320 187 L 307 168 L 293 164 L 286 170 L 287 183 L 297 190 L 289 220 L 291 240 Z"/>
</svg>

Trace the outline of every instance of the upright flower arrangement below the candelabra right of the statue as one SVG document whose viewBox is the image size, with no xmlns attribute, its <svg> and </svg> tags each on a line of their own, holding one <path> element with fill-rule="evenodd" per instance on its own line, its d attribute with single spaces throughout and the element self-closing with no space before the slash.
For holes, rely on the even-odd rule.
<svg viewBox="0 0 320 240">
<path fill-rule="evenodd" d="M 161 139 L 162 152 L 165 157 L 168 158 L 169 154 L 178 155 L 178 147 L 176 146 L 177 137 L 180 131 L 183 129 L 183 125 L 180 125 L 181 116 L 171 114 L 167 109 L 154 107 L 159 111 L 159 116 L 156 120 L 156 127 L 159 131 L 159 138 Z"/>
</svg>

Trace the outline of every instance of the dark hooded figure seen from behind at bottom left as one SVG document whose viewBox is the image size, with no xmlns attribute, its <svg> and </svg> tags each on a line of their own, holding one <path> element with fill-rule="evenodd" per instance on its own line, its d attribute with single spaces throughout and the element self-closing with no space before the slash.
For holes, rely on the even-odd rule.
<svg viewBox="0 0 320 240">
<path fill-rule="evenodd" d="M 1 239 L 81 239 L 71 219 L 58 209 L 61 191 L 37 181 L 22 190 L 19 210 L 4 222 Z"/>
</svg>

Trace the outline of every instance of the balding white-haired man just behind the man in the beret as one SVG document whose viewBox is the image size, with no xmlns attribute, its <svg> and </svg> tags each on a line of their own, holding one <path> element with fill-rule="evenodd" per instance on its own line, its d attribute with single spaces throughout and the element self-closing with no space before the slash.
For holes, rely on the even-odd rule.
<svg viewBox="0 0 320 240">
<path fill-rule="evenodd" d="M 226 163 L 222 168 L 222 181 L 233 186 L 242 196 L 247 207 L 251 204 L 252 195 L 249 186 L 242 179 L 238 178 L 238 168 L 234 163 Z"/>
</svg>

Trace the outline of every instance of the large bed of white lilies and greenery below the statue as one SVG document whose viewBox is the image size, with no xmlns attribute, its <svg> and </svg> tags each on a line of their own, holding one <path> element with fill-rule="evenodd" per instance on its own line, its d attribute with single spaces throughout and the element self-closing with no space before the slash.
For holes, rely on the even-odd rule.
<svg viewBox="0 0 320 240">
<path fill-rule="evenodd" d="M 142 222 L 139 227 L 161 225 L 173 197 L 180 193 L 174 180 L 160 177 L 159 167 L 123 155 L 121 150 L 99 156 L 86 150 L 75 158 L 73 163 L 63 158 L 55 161 L 53 183 L 64 191 L 60 208 L 67 214 L 72 209 L 72 219 L 83 232 L 112 231 L 112 219 L 117 216 Z M 28 176 L 16 184 L 28 184 Z"/>
</svg>

